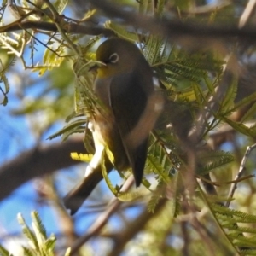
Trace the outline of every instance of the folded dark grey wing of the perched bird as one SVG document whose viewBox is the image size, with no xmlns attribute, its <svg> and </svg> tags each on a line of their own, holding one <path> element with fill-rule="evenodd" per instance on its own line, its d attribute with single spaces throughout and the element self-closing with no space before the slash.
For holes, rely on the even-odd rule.
<svg viewBox="0 0 256 256">
<path fill-rule="evenodd" d="M 136 147 L 133 147 L 127 138 L 139 123 L 148 102 L 148 96 L 139 83 L 141 83 L 139 74 L 133 72 L 115 76 L 110 84 L 111 108 L 137 186 L 140 185 L 143 178 L 148 134 L 143 137 L 142 141 L 139 141 L 141 138 L 137 137 L 139 143 Z M 141 128 L 143 129 L 143 127 Z"/>
</svg>

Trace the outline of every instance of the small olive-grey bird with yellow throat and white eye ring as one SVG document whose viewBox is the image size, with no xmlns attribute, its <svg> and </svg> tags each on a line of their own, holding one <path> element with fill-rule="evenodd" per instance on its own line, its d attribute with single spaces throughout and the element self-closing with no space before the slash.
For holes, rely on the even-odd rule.
<svg viewBox="0 0 256 256">
<path fill-rule="evenodd" d="M 96 153 L 86 168 L 84 181 L 64 199 L 64 204 L 75 213 L 92 189 L 102 179 L 93 172 L 101 166 L 102 152 L 108 147 L 113 154 L 112 167 L 125 171 L 131 167 L 136 186 L 142 183 L 147 158 L 148 136 L 154 128 L 163 101 L 154 90 L 153 71 L 135 44 L 121 38 L 110 38 L 96 50 L 97 75 L 93 90 L 103 108 L 96 109 L 90 119 L 90 130 Z M 86 179 L 90 180 L 87 182 Z M 87 188 L 86 188 L 87 186 Z"/>
</svg>

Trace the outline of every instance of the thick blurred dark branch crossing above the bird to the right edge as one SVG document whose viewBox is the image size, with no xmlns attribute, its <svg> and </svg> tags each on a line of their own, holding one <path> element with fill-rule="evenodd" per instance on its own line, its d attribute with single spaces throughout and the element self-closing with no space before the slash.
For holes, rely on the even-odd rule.
<svg viewBox="0 0 256 256">
<path fill-rule="evenodd" d="M 160 20 L 136 12 L 125 11 L 121 5 L 102 0 L 89 0 L 98 9 L 102 9 L 109 17 L 119 18 L 126 23 L 148 30 L 154 34 L 173 38 L 174 36 L 189 36 L 198 38 L 247 38 L 254 41 L 256 38 L 255 27 L 247 26 L 238 28 L 234 26 L 206 25 L 199 22 L 183 22 L 181 20 Z"/>
</svg>

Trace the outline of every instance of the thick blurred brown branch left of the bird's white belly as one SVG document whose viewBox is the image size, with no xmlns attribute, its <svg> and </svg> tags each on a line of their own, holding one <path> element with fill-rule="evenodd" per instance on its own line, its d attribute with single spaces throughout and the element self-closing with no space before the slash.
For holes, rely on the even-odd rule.
<svg viewBox="0 0 256 256">
<path fill-rule="evenodd" d="M 79 164 L 71 152 L 84 152 L 82 140 L 68 140 L 47 147 L 32 148 L 0 167 L 0 201 L 33 177 Z"/>
</svg>

